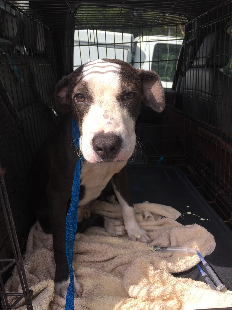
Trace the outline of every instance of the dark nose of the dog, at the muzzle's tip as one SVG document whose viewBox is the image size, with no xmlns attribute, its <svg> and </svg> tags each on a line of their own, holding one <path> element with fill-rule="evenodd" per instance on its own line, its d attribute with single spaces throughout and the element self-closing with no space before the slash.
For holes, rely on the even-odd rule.
<svg viewBox="0 0 232 310">
<path fill-rule="evenodd" d="M 95 153 L 104 161 L 113 160 L 118 155 L 121 144 L 121 138 L 112 131 L 97 132 L 92 138 L 92 147 Z"/>
</svg>

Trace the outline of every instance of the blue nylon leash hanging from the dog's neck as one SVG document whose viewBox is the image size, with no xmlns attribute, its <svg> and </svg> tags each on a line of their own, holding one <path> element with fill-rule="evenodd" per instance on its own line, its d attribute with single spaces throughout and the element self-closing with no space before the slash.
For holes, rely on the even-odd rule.
<svg viewBox="0 0 232 310">
<path fill-rule="evenodd" d="M 77 122 L 74 117 L 72 118 L 72 139 L 74 141 L 75 148 L 79 148 L 79 138 L 80 131 Z M 79 193 L 80 193 L 80 170 L 83 162 L 83 158 L 78 159 L 75 167 L 73 184 L 72 184 L 72 198 L 70 207 L 68 209 L 66 217 L 66 256 L 68 261 L 68 270 L 70 283 L 68 286 L 68 291 L 66 295 L 65 310 L 73 310 L 74 308 L 74 275 L 72 269 L 73 261 L 73 247 L 76 237 L 76 227 L 77 227 L 77 214 L 79 205 Z"/>
</svg>

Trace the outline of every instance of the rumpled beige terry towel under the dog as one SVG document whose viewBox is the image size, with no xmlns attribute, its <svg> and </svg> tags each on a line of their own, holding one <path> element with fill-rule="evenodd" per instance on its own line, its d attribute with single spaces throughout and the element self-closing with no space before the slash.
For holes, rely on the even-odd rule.
<svg viewBox="0 0 232 310">
<path fill-rule="evenodd" d="M 92 211 L 121 219 L 118 204 L 96 201 Z M 175 221 L 181 214 L 169 206 L 135 204 L 137 220 L 152 238 L 151 244 L 197 248 L 205 256 L 215 248 L 213 236 L 203 227 L 183 226 Z M 232 292 L 211 290 L 204 282 L 176 278 L 200 261 L 191 253 L 155 253 L 149 246 L 125 237 L 111 237 L 104 228 L 92 227 L 76 235 L 74 246 L 75 275 L 83 288 L 75 299 L 75 310 L 175 310 L 228 307 Z M 63 310 L 65 300 L 54 294 L 55 264 L 52 236 L 36 223 L 29 234 L 25 271 L 34 290 L 34 310 Z M 6 283 L 8 292 L 20 291 L 17 271 Z M 11 297 L 10 297 L 11 298 Z M 11 298 L 11 303 L 14 302 Z M 23 300 L 18 305 L 26 309 Z"/>
</svg>

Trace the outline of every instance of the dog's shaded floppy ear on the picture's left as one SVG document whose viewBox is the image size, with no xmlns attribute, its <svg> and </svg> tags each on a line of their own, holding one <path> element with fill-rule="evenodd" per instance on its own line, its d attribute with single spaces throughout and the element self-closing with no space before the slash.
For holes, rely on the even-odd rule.
<svg viewBox="0 0 232 310">
<path fill-rule="evenodd" d="M 60 112 L 66 113 L 71 110 L 68 84 L 71 74 L 63 77 L 55 87 L 55 103 Z"/>
</svg>

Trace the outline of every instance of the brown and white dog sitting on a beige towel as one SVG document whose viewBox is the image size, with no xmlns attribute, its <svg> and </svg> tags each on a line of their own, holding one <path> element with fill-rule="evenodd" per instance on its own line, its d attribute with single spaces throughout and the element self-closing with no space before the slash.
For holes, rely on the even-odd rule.
<svg viewBox="0 0 232 310">
<path fill-rule="evenodd" d="M 150 240 L 136 221 L 126 170 L 127 160 L 135 148 L 135 122 L 141 100 L 157 112 L 164 109 L 165 95 L 160 78 L 154 71 L 135 69 L 121 60 L 88 62 L 56 85 L 56 107 L 69 113 L 38 152 L 28 177 L 28 187 L 42 229 L 53 234 L 55 292 L 64 298 L 69 284 L 66 214 L 80 154 L 84 162 L 77 232 L 98 225 L 105 227 L 112 236 L 127 232 L 130 240 L 146 243 Z M 72 143 L 72 116 L 80 130 L 78 150 Z M 101 194 L 110 180 L 122 207 L 124 223 L 90 215 L 88 209 L 89 203 Z M 75 278 L 75 296 L 81 294 L 82 288 Z"/>
</svg>

